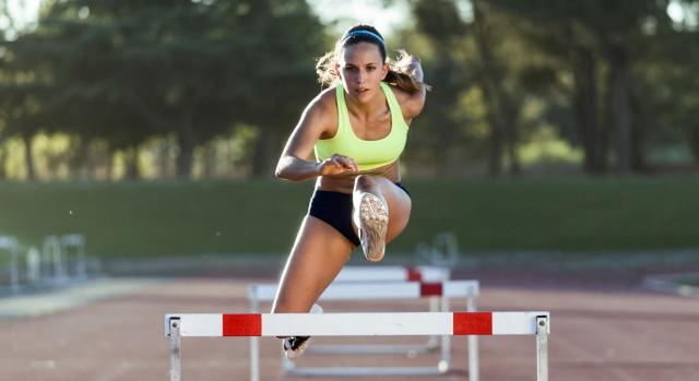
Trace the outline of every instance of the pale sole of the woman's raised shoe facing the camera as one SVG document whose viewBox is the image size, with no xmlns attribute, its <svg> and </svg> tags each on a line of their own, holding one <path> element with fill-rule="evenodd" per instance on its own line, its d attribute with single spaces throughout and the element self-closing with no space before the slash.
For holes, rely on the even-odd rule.
<svg viewBox="0 0 699 381">
<path fill-rule="evenodd" d="M 362 195 L 359 202 L 359 240 L 364 255 L 370 262 L 379 262 L 386 253 L 386 230 L 389 211 L 383 202 L 371 193 Z"/>
</svg>

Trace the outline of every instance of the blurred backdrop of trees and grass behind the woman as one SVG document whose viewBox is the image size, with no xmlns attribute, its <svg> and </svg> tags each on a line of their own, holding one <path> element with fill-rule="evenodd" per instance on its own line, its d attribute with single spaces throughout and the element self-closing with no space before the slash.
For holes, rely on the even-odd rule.
<svg viewBox="0 0 699 381">
<path fill-rule="evenodd" d="M 434 87 L 389 251 L 448 231 L 474 257 L 696 258 L 690 0 L 2 0 L 0 235 L 79 234 L 104 263 L 283 258 L 312 181 L 273 168 L 357 22 Z"/>
</svg>

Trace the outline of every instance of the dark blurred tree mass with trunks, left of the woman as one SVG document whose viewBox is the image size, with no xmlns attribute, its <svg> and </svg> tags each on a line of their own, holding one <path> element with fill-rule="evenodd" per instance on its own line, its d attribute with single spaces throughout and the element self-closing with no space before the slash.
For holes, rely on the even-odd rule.
<svg viewBox="0 0 699 381">
<path fill-rule="evenodd" d="M 189 177 L 194 147 L 239 122 L 260 129 L 262 175 L 272 174 L 280 130 L 312 96 L 323 38 L 301 0 L 73 0 L 47 1 L 37 31 L 5 49 L 24 70 L 50 62 L 52 92 L 38 107 L 46 129 L 106 140 L 130 157 L 132 176 L 150 136 L 175 134 L 177 174 Z"/>
</svg>

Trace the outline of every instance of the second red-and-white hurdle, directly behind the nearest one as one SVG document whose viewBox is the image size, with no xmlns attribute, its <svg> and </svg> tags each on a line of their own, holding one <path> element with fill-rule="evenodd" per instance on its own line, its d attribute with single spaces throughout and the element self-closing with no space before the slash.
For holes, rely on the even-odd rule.
<svg viewBox="0 0 699 381">
<path fill-rule="evenodd" d="M 475 312 L 475 297 L 479 291 L 477 281 L 450 281 L 441 283 L 422 282 L 372 282 L 372 283 L 332 283 L 320 296 L 319 301 L 325 300 L 386 300 L 386 299 L 417 299 L 425 297 L 440 297 L 441 312 L 449 310 L 449 298 L 466 298 L 466 310 Z M 276 294 L 276 284 L 253 284 L 248 286 L 250 312 L 259 312 L 260 301 L 271 301 Z M 434 311 L 433 311 L 434 312 Z M 476 336 L 469 336 L 469 379 L 478 381 L 478 347 Z M 322 354 L 395 354 L 395 353 L 426 353 L 435 346 L 425 345 L 322 345 L 315 344 L 309 353 Z M 250 337 L 250 367 L 258 367 L 258 337 Z M 297 367 L 296 364 L 282 355 L 284 371 L 297 376 L 425 376 L 441 374 L 449 370 L 451 362 L 451 336 L 441 336 L 440 359 L 436 367 Z M 252 381 L 257 381 L 252 379 Z"/>
</svg>

